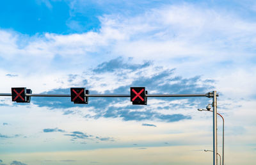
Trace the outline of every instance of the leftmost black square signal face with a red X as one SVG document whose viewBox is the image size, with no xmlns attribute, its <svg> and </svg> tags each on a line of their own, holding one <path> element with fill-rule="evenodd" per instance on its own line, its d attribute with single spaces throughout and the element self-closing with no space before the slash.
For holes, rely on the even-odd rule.
<svg viewBox="0 0 256 165">
<path fill-rule="evenodd" d="M 27 102 L 26 88 L 12 88 L 13 102 Z"/>
</svg>

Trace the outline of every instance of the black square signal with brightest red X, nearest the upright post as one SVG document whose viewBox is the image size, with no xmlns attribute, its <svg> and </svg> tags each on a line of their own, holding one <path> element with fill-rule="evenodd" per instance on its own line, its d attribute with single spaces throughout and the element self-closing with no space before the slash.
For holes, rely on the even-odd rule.
<svg viewBox="0 0 256 165">
<path fill-rule="evenodd" d="M 134 105 L 147 105 L 145 87 L 131 87 L 131 102 Z"/>
</svg>

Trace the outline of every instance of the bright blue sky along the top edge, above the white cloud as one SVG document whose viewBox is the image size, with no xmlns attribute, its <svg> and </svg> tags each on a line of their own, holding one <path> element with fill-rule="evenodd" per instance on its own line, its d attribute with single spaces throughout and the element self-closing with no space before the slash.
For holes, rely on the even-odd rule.
<svg viewBox="0 0 256 165">
<path fill-rule="evenodd" d="M 164 5 L 191 3 L 212 9 L 239 13 L 243 19 L 252 19 L 254 9 L 250 1 L 2 1 L 0 24 L 26 35 L 36 33 L 84 33 L 99 31 L 102 15 L 131 17 Z M 253 2 L 253 1 L 251 1 Z M 13 5 L 14 4 L 14 5 Z"/>
</svg>

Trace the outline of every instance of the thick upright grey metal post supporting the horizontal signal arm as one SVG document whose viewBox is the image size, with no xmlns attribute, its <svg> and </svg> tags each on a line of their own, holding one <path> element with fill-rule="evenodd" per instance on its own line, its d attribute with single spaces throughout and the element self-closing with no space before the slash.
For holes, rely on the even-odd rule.
<svg viewBox="0 0 256 165">
<path fill-rule="evenodd" d="M 213 165 L 217 165 L 217 97 L 216 91 L 212 91 L 212 107 L 213 107 Z"/>
</svg>

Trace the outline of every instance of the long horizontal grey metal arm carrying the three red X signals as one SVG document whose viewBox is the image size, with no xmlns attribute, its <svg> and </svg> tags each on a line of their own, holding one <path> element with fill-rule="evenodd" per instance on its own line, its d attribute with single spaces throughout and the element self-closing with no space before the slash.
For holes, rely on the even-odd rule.
<svg viewBox="0 0 256 165">
<path fill-rule="evenodd" d="M 12 96 L 12 93 L 0 93 L 0 96 Z M 70 94 L 29 94 L 28 97 L 70 97 Z M 218 93 L 217 95 L 218 96 Z M 114 95 L 114 94 L 93 94 L 86 95 L 86 97 L 131 97 L 131 95 Z M 212 97 L 212 93 L 201 94 L 152 94 L 146 95 L 146 97 Z"/>
</svg>

